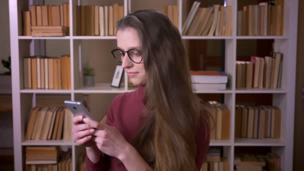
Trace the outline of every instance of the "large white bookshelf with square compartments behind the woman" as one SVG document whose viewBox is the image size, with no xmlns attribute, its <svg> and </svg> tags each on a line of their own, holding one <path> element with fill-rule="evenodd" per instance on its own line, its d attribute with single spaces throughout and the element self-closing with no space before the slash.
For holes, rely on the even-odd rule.
<svg viewBox="0 0 304 171">
<path fill-rule="evenodd" d="M 51 1 L 51 0 L 50 0 Z M 161 10 L 165 4 L 178 5 L 178 29 L 181 32 L 182 23 L 188 13 L 186 5 L 191 2 L 187 0 L 112 0 L 111 2 L 118 2 L 124 5 L 124 15 L 128 11 L 143 8 L 154 8 Z M 104 102 L 103 109 L 107 108 L 113 96 L 132 91 L 134 88 L 127 86 L 127 75 L 124 75 L 122 85 L 120 88 L 112 88 L 109 86 L 112 71 L 115 63 L 110 56 L 102 60 L 98 58 L 100 52 L 109 52 L 110 48 L 115 45 L 116 36 L 79 36 L 76 35 L 76 5 L 87 4 L 87 0 L 64 0 L 69 5 L 69 36 L 62 37 L 32 37 L 22 35 L 22 20 L 21 11 L 28 10 L 28 6 L 32 4 L 32 0 L 9 0 L 9 23 L 10 23 L 10 46 L 11 48 L 11 68 L 12 68 L 12 104 L 13 104 L 13 145 L 14 145 L 14 163 L 15 170 L 24 169 L 24 149 L 26 145 L 61 145 L 68 146 L 72 149 L 72 166 L 73 170 L 78 170 L 77 156 L 81 151 L 81 147 L 76 145 L 73 141 L 64 140 L 23 140 L 25 128 L 27 124 L 28 114 L 33 105 L 36 104 L 36 97 L 39 95 L 58 95 L 65 96 L 70 100 L 79 100 L 85 98 L 87 94 L 95 96 L 95 98 L 102 99 Z M 94 3 L 95 2 L 95 3 Z M 107 4 L 108 1 L 92 0 L 89 4 Z M 57 4 L 57 3 L 55 3 Z M 232 5 L 232 35 L 231 36 L 186 36 L 182 35 L 183 41 L 191 41 L 193 39 L 207 39 L 207 40 L 223 40 L 224 49 L 224 68 L 229 75 L 229 82 L 226 90 L 206 90 L 199 89 L 197 93 L 215 93 L 223 94 L 223 101 L 230 109 L 230 139 L 229 140 L 211 140 L 210 146 L 223 146 L 223 155 L 226 156 L 230 163 L 229 170 L 233 170 L 233 156 L 235 148 L 237 147 L 263 147 L 268 146 L 271 151 L 276 152 L 281 158 L 281 170 L 292 170 L 292 156 L 293 156 L 293 123 L 294 123 L 294 87 L 295 87 L 295 61 L 296 61 L 296 37 L 297 37 L 297 4 L 298 0 L 284 0 L 284 25 L 282 36 L 237 36 L 236 35 L 236 15 L 238 0 L 226 0 L 226 4 Z M 283 72 L 281 88 L 274 89 L 258 89 L 258 88 L 235 88 L 236 84 L 236 49 L 237 41 L 241 39 L 273 39 L 274 50 L 280 51 L 284 55 Z M 35 45 L 30 45 L 30 41 L 37 43 L 47 40 L 67 41 L 69 46 L 69 54 L 71 56 L 71 89 L 69 90 L 53 90 L 53 89 L 23 89 L 23 73 L 22 73 L 22 57 L 26 55 L 34 55 L 37 51 Z M 101 49 L 94 46 L 94 43 L 104 45 Z M 37 44 L 34 43 L 34 44 Z M 88 50 L 88 46 L 90 50 Z M 187 47 L 186 47 L 187 48 Z M 92 50 L 93 49 L 93 50 Z M 100 51 L 101 50 L 101 51 Z M 92 52 L 93 51 L 93 52 Z M 95 54 L 92 54 L 95 53 Z M 103 54 L 101 53 L 101 54 Z M 59 54 L 60 55 L 60 54 Z M 95 58 L 85 56 L 94 56 Z M 97 56 L 97 57 L 96 57 Z M 83 63 L 93 65 L 97 62 L 103 61 L 102 69 L 98 70 L 100 73 L 98 77 L 101 82 L 94 87 L 82 87 L 81 83 L 81 68 Z M 79 67 L 80 66 L 80 67 Z M 281 134 L 280 139 L 244 139 L 234 138 L 235 128 L 235 103 L 238 94 L 272 94 L 272 105 L 278 106 L 281 109 Z M 112 95 L 112 96 L 111 96 Z M 61 99 L 61 97 L 60 97 Z M 98 105 L 94 102 L 94 105 Z M 22 155 L 20 155 L 22 154 Z"/>
</svg>

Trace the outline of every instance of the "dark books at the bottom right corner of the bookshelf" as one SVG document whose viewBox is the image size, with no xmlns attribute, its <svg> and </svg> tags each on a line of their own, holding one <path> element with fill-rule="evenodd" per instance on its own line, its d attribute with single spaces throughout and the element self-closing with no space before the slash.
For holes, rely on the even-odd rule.
<svg viewBox="0 0 304 171">
<path fill-rule="evenodd" d="M 276 153 L 268 154 L 240 154 L 234 156 L 236 171 L 279 171 L 280 157 Z"/>
</svg>

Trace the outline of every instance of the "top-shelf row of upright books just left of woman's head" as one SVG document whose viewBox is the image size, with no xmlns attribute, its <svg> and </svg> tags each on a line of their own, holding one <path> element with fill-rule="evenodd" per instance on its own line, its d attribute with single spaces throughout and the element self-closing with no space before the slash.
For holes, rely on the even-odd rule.
<svg viewBox="0 0 304 171">
<path fill-rule="evenodd" d="M 123 5 L 81 5 L 76 8 L 77 35 L 116 35 L 116 22 L 124 16 Z"/>
</svg>

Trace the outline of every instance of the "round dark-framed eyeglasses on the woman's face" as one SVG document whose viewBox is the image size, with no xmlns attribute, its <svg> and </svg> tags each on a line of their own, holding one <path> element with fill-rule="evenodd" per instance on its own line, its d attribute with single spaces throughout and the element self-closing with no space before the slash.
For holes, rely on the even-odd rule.
<svg viewBox="0 0 304 171">
<path fill-rule="evenodd" d="M 116 59 L 118 62 L 122 63 L 122 59 L 125 55 L 125 53 L 127 53 L 127 56 L 130 58 L 130 60 L 134 63 L 140 63 L 142 60 L 141 57 L 141 52 L 137 49 L 129 49 L 127 51 L 123 51 L 119 48 L 115 48 L 111 51 L 114 59 Z"/>
</svg>

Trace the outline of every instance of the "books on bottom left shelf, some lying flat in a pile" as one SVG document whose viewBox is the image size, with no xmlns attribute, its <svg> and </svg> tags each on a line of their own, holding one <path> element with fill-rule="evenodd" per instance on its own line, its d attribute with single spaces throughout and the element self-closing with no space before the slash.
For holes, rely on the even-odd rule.
<svg viewBox="0 0 304 171">
<path fill-rule="evenodd" d="M 72 170 L 71 150 L 58 146 L 26 146 L 25 170 Z"/>
</svg>

